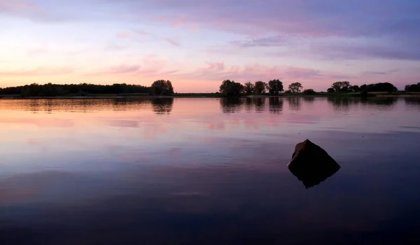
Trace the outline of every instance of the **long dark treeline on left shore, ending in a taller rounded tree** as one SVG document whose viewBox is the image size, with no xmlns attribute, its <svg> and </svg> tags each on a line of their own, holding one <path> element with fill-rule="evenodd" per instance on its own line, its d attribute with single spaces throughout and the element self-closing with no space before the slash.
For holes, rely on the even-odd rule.
<svg viewBox="0 0 420 245">
<path fill-rule="evenodd" d="M 128 85 L 115 83 L 113 85 L 96 85 L 90 83 L 80 84 L 52 84 L 47 83 L 18 87 L 0 88 L 0 94 L 20 94 L 22 97 L 55 97 L 65 95 L 83 96 L 87 94 L 153 94 L 171 95 L 174 94 L 174 87 L 169 80 L 157 80 L 151 87 L 143 85 Z"/>
</svg>

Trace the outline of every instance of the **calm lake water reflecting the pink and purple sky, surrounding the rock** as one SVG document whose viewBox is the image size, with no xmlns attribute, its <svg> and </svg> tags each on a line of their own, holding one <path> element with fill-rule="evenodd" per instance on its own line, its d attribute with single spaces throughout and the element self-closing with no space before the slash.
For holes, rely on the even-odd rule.
<svg viewBox="0 0 420 245">
<path fill-rule="evenodd" d="M 0 244 L 407 244 L 419 159 L 415 98 L 3 99 Z"/>
</svg>

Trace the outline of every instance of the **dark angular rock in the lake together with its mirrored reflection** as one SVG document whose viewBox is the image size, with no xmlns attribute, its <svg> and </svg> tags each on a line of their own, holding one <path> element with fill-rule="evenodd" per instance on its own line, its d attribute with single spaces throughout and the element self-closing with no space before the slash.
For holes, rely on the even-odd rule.
<svg viewBox="0 0 420 245">
<path fill-rule="evenodd" d="M 339 170 L 339 165 L 323 148 L 309 141 L 295 147 L 288 169 L 306 188 L 318 185 Z"/>
</svg>

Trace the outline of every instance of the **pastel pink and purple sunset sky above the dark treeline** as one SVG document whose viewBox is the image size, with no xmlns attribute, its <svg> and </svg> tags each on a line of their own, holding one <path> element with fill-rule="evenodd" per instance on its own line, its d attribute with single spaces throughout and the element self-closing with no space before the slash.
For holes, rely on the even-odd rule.
<svg viewBox="0 0 420 245">
<path fill-rule="evenodd" d="M 0 87 L 420 82 L 420 0 L 0 0 Z"/>
</svg>

